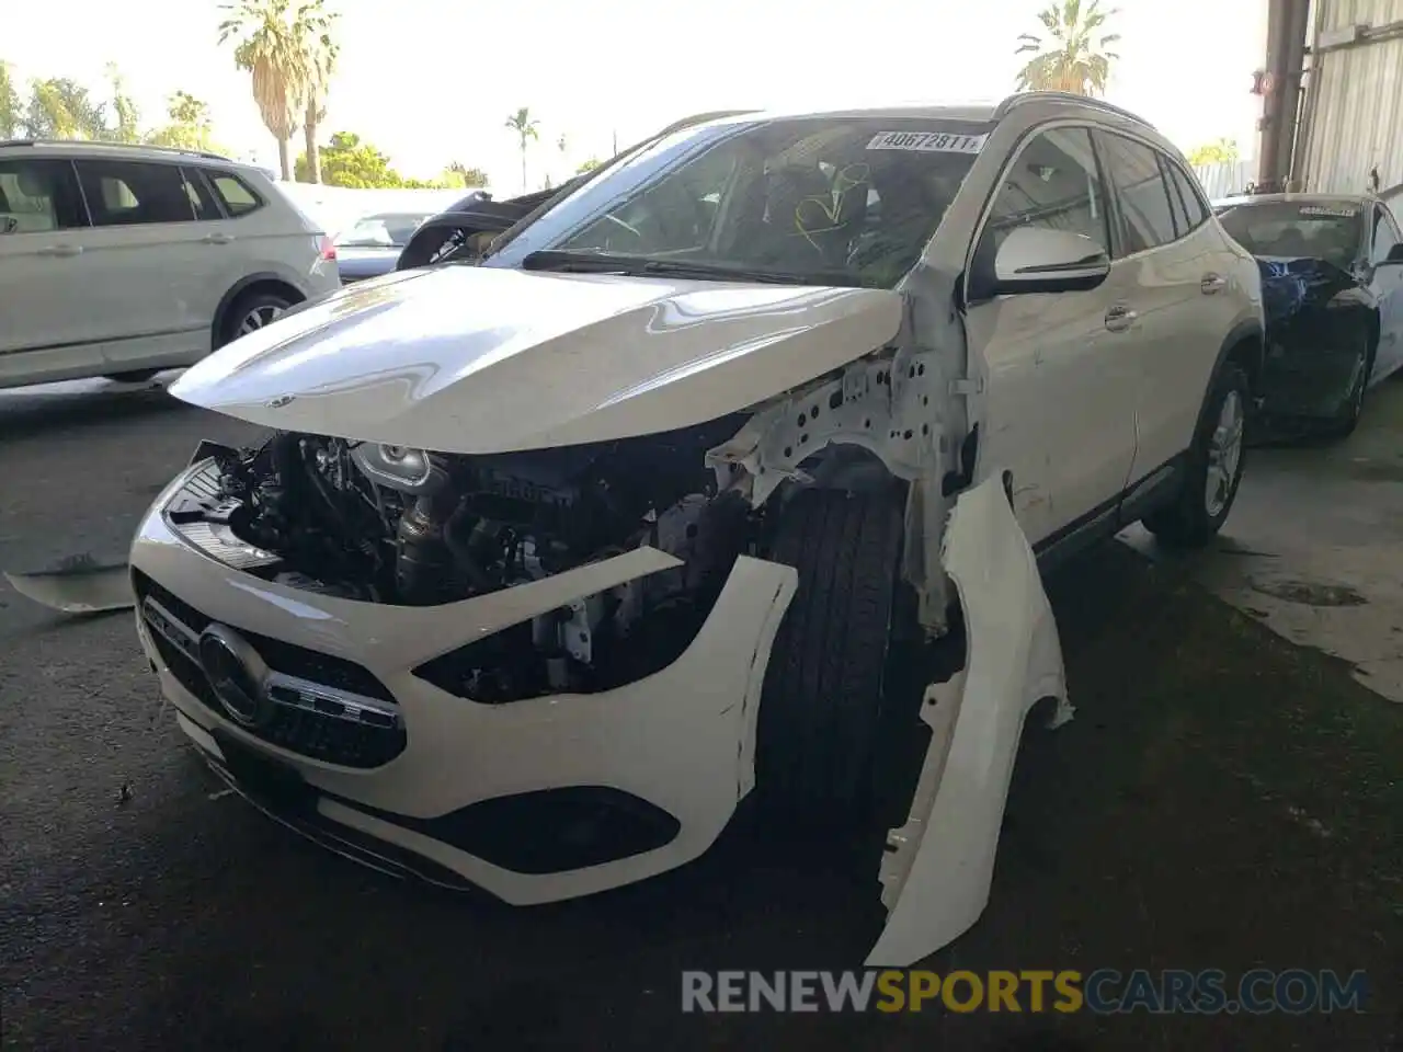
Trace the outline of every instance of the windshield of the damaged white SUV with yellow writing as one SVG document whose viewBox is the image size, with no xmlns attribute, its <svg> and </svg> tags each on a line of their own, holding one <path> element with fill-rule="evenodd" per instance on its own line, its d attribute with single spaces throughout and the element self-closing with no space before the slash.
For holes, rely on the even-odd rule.
<svg viewBox="0 0 1403 1052">
<path fill-rule="evenodd" d="M 488 264 L 891 288 L 988 130 L 890 116 L 687 129 L 558 201 Z"/>
</svg>

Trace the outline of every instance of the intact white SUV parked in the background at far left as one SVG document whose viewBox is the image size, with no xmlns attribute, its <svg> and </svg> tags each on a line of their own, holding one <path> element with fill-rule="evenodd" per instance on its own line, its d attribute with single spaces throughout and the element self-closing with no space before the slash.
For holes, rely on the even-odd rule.
<svg viewBox="0 0 1403 1052">
<path fill-rule="evenodd" d="M 0 387 L 188 366 L 340 285 L 331 240 L 258 168 L 0 142 Z"/>
</svg>

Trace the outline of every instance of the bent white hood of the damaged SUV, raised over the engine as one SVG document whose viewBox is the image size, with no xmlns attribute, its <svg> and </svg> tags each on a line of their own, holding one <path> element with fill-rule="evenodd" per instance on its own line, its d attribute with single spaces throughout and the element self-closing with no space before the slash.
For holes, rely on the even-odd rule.
<svg viewBox="0 0 1403 1052">
<path fill-rule="evenodd" d="M 449 265 L 355 285 L 191 367 L 230 417 L 443 453 L 689 426 L 891 341 L 894 292 Z"/>
</svg>

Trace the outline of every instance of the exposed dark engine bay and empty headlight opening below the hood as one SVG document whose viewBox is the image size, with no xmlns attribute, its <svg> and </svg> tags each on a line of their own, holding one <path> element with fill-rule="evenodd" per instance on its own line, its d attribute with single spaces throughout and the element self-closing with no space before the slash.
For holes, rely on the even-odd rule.
<svg viewBox="0 0 1403 1052">
<path fill-rule="evenodd" d="M 177 499 L 177 529 L 231 533 L 241 568 L 359 602 L 435 606 L 650 546 L 682 565 L 513 626 L 429 662 L 480 701 L 605 690 L 676 659 L 706 620 L 760 512 L 718 495 L 706 450 L 737 418 L 645 439 L 490 456 L 278 432 L 208 446 L 217 485 Z M 210 478 L 213 478 L 210 473 Z M 212 490 L 213 492 L 209 492 Z"/>
</svg>

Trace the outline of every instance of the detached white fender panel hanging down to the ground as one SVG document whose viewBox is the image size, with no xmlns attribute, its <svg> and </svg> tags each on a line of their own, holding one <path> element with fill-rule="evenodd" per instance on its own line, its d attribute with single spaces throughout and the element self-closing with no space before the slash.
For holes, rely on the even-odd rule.
<svg viewBox="0 0 1403 1052">
<path fill-rule="evenodd" d="M 996 471 L 955 502 L 941 562 L 960 592 L 965 668 L 922 706 L 930 748 L 882 858 L 887 926 L 868 966 L 905 968 L 968 930 L 989 901 L 999 828 L 1028 710 L 1070 718 L 1056 621 Z"/>
</svg>

